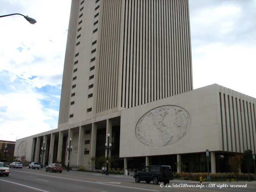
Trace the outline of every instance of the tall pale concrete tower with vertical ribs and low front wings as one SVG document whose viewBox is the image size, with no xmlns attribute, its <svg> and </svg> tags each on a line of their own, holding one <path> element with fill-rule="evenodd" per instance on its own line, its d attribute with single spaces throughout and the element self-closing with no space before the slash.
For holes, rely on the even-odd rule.
<svg viewBox="0 0 256 192">
<path fill-rule="evenodd" d="M 227 157 L 255 153 L 256 99 L 212 84 L 193 90 L 187 0 L 73 0 L 58 128 L 16 140 L 14 156 L 120 169 L 167 164 L 227 172 Z M 41 148 L 45 153 L 42 158 Z M 177 170 L 178 172 L 180 170 Z"/>
</svg>

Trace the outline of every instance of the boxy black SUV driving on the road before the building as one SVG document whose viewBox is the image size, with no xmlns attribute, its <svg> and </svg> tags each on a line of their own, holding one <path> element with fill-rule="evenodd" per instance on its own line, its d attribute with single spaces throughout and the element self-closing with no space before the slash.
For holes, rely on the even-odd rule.
<svg viewBox="0 0 256 192">
<path fill-rule="evenodd" d="M 140 181 L 146 181 L 146 183 L 153 181 L 154 184 L 163 182 L 166 185 L 170 180 L 173 180 L 173 172 L 171 166 L 168 165 L 150 165 L 145 166 L 140 172 L 135 172 L 133 178 L 137 183 Z"/>
</svg>

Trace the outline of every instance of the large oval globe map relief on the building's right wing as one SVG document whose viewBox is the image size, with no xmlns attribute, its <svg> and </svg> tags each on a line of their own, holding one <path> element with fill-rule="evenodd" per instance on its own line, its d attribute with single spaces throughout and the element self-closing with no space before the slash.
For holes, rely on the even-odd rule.
<svg viewBox="0 0 256 192">
<path fill-rule="evenodd" d="M 177 142 L 190 127 L 190 115 L 181 107 L 165 105 L 154 108 L 140 118 L 136 137 L 144 145 L 163 147 Z"/>
</svg>

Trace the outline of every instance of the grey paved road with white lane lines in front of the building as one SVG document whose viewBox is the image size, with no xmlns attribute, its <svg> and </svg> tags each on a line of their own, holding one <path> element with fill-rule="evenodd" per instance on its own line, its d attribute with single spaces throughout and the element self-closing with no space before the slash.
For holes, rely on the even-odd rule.
<svg viewBox="0 0 256 192">
<path fill-rule="evenodd" d="M 215 185 L 214 185 L 215 184 Z M 161 187 L 162 185 L 162 187 Z M 230 185 L 240 185 L 233 186 Z M 242 187 L 242 185 L 246 185 Z M 228 186 L 228 187 L 227 187 Z M 9 177 L 0 176 L 1 192 L 128 192 L 128 191 L 256 191 L 256 181 L 252 182 L 203 182 L 172 180 L 169 186 L 135 183 L 131 176 L 102 175 L 100 173 L 63 171 L 62 173 L 45 172 L 43 169 L 11 169 Z"/>
</svg>

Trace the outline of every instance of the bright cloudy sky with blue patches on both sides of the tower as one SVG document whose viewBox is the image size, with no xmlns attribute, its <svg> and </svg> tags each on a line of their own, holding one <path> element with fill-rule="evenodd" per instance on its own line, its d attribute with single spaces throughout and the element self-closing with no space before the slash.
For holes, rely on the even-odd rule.
<svg viewBox="0 0 256 192">
<path fill-rule="evenodd" d="M 1 0 L 0 140 L 57 128 L 71 0 Z M 194 89 L 256 98 L 256 0 L 189 0 Z M 254 58 L 253 58 L 254 57 Z"/>
</svg>

